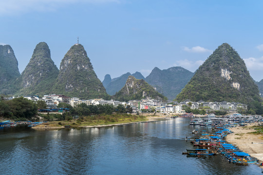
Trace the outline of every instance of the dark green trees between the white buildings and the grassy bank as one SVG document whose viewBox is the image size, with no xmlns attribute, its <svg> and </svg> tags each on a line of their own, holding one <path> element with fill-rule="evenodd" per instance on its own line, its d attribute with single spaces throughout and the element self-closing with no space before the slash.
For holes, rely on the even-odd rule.
<svg viewBox="0 0 263 175">
<path fill-rule="evenodd" d="M 23 97 L 14 98 L 12 100 L 5 100 L 1 97 L 0 100 L 0 117 L 10 120 L 33 120 L 38 118 L 38 109 L 45 109 L 47 107 L 44 101 L 33 102 Z M 72 118 L 72 116 L 91 116 L 99 114 L 111 115 L 114 113 L 132 113 L 132 107 L 130 105 L 86 105 L 80 104 L 76 107 L 72 107 L 66 103 L 59 103 L 58 108 L 69 108 L 70 111 L 57 118 L 58 120 L 65 120 L 66 118 Z M 49 116 L 49 114 L 48 114 Z M 55 115 L 58 116 L 58 115 Z"/>
</svg>

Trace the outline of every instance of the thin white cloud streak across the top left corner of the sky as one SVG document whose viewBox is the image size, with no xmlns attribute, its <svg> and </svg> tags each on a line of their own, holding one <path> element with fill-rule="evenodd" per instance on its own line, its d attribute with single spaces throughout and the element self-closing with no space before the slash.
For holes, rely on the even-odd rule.
<svg viewBox="0 0 263 175">
<path fill-rule="evenodd" d="M 120 0 L 0 0 L 0 16 L 18 15 L 27 12 L 46 12 L 75 3 L 108 3 Z"/>
</svg>

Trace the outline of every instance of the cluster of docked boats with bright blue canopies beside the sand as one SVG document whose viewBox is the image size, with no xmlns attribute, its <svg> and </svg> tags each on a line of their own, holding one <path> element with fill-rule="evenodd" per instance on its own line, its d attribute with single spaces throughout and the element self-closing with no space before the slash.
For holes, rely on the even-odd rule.
<svg viewBox="0 0 263 175">
<path fill-rule="evenodd" d="M 226 143 L 224 138 L 227 134 L 232 133 L 226 127 L 232 127 L 229 124 L 221 127 L 215 127 L 214 133 L 200 132 L 198 137 L 191 140 L 193 146 L 198 146 L 197 149 L 187 149 L 189 156 L 212 156 L 221 154 L 226 157 L 229 162 L 237 164 L 258 163 L 258 159 L 251 157 L 249 154 L 242 152 L 233 144 Z"/>
</svg>

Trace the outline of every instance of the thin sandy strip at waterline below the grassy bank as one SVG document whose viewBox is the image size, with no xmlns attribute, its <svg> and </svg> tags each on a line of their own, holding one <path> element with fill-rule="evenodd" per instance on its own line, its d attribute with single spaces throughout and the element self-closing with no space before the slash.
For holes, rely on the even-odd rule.
<svg viewBox="0 0 263 175">
<path fill-rule="evenodd" d="M 158 120 L 166 119 L 164 116 L 147 116 L 147 121 L 142 122 L 129 122 L 129 123 L 116 123 L 116 124 L 103 124 L 103 125 L 93 125 L 93 126 L 76 126 L 76 127 L 83 127 L 83 128 L 92 128 L 92 127 L 106 127 L 106 126 L 117 126 L 117 125 L 123 125 L 123 124 L 130 124 L 130 123 L 144 123 L 144 122 L 154 122 Z M 46 124 L 39 124 L 37 126 L 32 127 L 33 129 L 60 129 L 64 128 L 64 126 L 52 126 L 52 125 L 46 125 Z"/>
</svg>

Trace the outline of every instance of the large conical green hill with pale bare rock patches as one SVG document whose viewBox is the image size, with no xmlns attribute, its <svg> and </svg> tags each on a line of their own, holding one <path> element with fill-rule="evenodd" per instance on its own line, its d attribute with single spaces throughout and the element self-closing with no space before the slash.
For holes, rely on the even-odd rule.
<svg viewBox="0 0 263 175">
<path fill-rule="evenodd" d="M 260 102 L 259 90 L 243 59 L 227 43 L 219 46 L 199 67 L 176 100 Z"/>
</svg>

